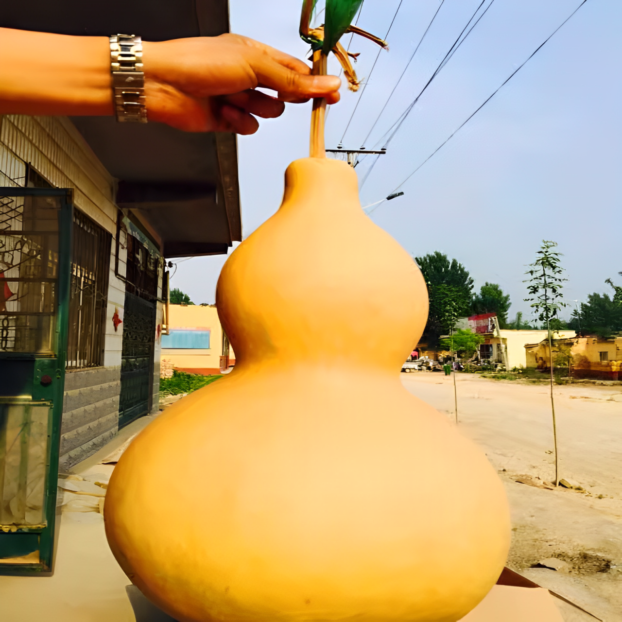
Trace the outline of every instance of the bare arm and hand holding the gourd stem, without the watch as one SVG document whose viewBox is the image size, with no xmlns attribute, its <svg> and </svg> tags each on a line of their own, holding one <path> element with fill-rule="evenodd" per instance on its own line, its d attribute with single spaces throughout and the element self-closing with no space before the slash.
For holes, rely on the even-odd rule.
<svg viewBox="0 0 622 622">
<path fill-rule="evenodd" d="M 177 129 L 252 134 L 254 116 L 279 116 L 284 101 L 339 100 L 339 78 L 239 35 L 142 47 L 147 118 Z M 110 67 L 107 37 L 0 28 L 0 114 L 112 116 Z"/>
</svg>

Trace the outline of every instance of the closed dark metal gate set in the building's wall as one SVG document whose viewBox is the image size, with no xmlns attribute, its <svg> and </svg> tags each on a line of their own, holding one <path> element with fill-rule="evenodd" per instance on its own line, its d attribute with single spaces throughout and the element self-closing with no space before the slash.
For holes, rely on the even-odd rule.
<svg viewBox="0 0 622 622">
<path fill-rule="evenodd" d="M 156 302 L 125 293 L 119 429 L 151 410 Z"/>
</svg>

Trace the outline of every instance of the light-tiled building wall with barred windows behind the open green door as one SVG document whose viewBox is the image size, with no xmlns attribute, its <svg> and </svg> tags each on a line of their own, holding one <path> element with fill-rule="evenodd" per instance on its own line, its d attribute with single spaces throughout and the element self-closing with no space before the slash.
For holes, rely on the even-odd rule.
<svg viewBox="0 0 622 622">
<path fill-rule="evenodd" d="M 63 470 L 158 408 L 164 258 L 118 209 L 115 180 L 68 119 L 1 116 L 0 185 L 73 188 Z M 11 287 L 9 311 L 20 299 Z"/>
</svg>

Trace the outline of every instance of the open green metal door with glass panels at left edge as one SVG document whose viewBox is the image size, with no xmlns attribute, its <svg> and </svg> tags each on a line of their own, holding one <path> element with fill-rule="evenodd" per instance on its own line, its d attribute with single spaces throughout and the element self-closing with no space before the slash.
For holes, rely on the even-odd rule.
<svg viewBox="0 0 622 622">
<path fill-rule="evenodd" d="M 72 190 L 0 188 L 0 574 L 50 572 Z"/>
</svg>

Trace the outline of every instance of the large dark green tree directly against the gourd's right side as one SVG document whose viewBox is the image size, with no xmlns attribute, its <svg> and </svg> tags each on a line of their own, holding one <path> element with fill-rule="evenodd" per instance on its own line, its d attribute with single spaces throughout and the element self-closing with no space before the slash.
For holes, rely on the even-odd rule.
<svg viewBox="0 0 622 622">
<path fill-rule="evenodd" d="M 440 335 L 451 332 L 452 317 L 462 317 L 471 312 L 473 279 L 456 259 L 435 251 L 415 257 L 428 287 L 430 311 L 424 333 L 430 345 L 438 343 Z M 455 325 L 455 322 L 453 322 Z"/>
</svg>

